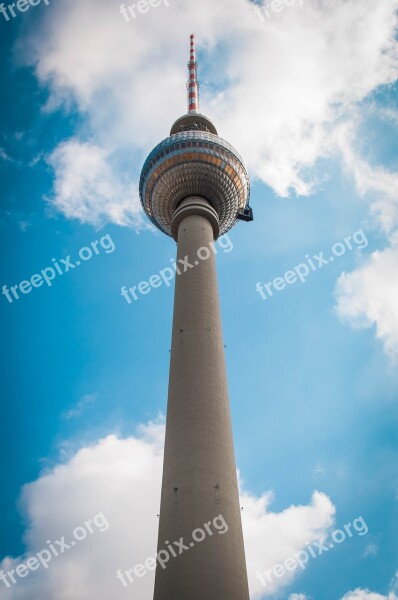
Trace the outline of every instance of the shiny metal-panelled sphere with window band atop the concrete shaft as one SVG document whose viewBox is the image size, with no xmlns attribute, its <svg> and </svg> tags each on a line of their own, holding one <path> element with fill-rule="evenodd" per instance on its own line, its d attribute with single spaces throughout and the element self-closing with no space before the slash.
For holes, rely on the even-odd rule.
<svg viewBox="0 0 398 600">
<path fill-rule="evenodd" d="M 172 135 L 146 159 L 140 179 L 141 204 L 152 223 L 172 236 L 173 214 L 179 204 L 191 196 L 202 197 L 217 212 L 222 235 L 248 204 L 249 177 L 239 154 L 216 135 L 206 117 L 195 115 L 195 126 L 193 115 L 184 119 L 176 121 Z"/>
</svg>

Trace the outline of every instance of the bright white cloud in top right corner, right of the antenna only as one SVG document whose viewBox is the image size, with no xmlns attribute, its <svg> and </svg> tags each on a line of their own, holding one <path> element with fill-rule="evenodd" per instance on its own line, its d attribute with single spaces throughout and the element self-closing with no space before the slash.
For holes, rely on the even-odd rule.
<svg viewBox="0 0 398 600">
<path fill-rule="evenodd" d="M 397 77 L 397 6 L 308 1 L 261 24 L 237 49 L 228 65 L 236 83 L 218 112 L 254 174 L 278 194 L 310 193 L 316 180 L 304 171 L 334 152 L 339 120 L 350 121 L 357 102 Z"/>
</svg>

